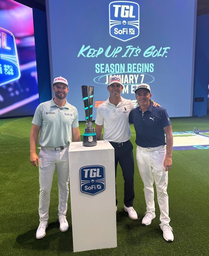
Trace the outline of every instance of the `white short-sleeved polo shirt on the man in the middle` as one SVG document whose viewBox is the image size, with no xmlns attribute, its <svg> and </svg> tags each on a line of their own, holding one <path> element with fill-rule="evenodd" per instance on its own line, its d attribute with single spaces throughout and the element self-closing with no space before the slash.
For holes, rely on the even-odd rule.
<svg viewBox="0 0 209 256">
<path fill-rule="evenodd" d="M 104 125 L 104 140 L 125 142 L 130 139 L 129 113 L 134 108 L 131 100 L 122 97 L 117 106 L 110 103 L 109 98 L 98 106 L 95 123 Z"/>
</svg>

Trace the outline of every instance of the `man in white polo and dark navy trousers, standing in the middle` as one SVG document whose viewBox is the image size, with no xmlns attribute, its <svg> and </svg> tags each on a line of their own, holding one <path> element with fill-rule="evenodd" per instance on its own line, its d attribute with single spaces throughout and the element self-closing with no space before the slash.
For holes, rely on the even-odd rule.
<svg viewBox="0 0 209 256">
<path fill-rule="evenodd" d="M 103 139 L 108 140 L 115 152 L 115 178 L 118 162 L 121 166 L 124 178 L 124 210 L 131 219 L 138 219 L 133 208 L 134 202 L 134 156 L 133 145 L 130 142 L 131 130 L 129 125 L 129 113 L 135 108 L 131 100 L 120 96 L 123 83 L 120 76 L 109 78 L 107 90 L 109 97 L 97 108 L 95 132 L 97 140 L 101 140 L 102 127 L 104 125 Z M 156 105 L 158 105 L 156 103 Z M 116 199 L 116 210 L 117 210 Z"/>
</svg>

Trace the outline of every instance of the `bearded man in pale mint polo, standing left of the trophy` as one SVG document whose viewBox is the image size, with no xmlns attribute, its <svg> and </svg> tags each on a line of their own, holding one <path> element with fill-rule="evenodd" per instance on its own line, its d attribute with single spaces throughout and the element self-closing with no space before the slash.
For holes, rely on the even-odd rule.
<svg viewBox="0 0 209 256">
<path fill-rule="evenodd" d="M 59 187 L 58 218 L 60 230 L 68 230 L 66 220 L 69 182 L 68 149 L 72 142 L 80 141 L 78 128 L 78 111 L 70 105 L 66 96 L 68 82 L 61 76 L 53 81 L 55 97 L 50 101 L 41 103 L 35 111 L 33 125 L 30 132 L 30 162 L 38 167 L 39 164 L 39 217 L 40 224 L 36 231 L 36 238 L 45 236 L 48 226 L 50 191 L 53 174 L 57 170 Z M 36 144 L 40 132 L 39 144 L 41 150 L 36 154 Z"/>
</svg>

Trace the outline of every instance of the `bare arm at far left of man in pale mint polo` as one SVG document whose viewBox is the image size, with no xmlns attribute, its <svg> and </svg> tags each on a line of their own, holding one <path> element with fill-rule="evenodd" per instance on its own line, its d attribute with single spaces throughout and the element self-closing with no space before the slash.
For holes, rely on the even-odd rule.
<svg viewBox="0 0 209 256">
<path fill-rule="evenodd" d="M 36 167 L 38 167 L 37 162 L 40 163 L 39 157 L 36 154 L 36 145 L 38 142 L 40 128 L 40 126 L 33 124 L 30 131 L 30 162 Z"/>
</svg>

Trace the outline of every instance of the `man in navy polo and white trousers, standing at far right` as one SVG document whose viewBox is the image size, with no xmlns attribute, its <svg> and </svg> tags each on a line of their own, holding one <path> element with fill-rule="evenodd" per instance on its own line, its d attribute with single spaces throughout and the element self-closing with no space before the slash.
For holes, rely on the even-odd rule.
<svg viewBox="0 0 209 256">
<path fill-rule="evenodd" d="M 135 94 L 140 106 L 130 112 L 129 123 L 133 123 L 136 130 L 136 160 L 144 183 L 147 205 L 142 224 L 149 225 L 152 219 L 156 217 L 153 188 L 155 182 L 160 208 L 160 228 L 163 230 L 164 239 L 173 241 L 173 229 L 169 225 L 167 193 L 168 170 L 172 167 L 171 153 L 173 148 L 170 118 L 164 108 L 155 108 L 150 104 L 152 94 L 148 84 L 138 85 Z"/>
</svg>

